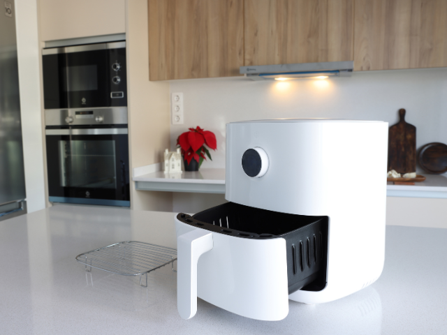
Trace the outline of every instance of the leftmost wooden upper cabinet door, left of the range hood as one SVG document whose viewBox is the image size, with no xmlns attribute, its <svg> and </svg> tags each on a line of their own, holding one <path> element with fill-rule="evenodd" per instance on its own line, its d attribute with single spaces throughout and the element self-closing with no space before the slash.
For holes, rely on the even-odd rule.
<svg viewBox="0 0 447 335">
<path fill-rule="evenodd" d="M 242 1 L 148 1 L 150 80 L 239 75 Z"/>
</svg>

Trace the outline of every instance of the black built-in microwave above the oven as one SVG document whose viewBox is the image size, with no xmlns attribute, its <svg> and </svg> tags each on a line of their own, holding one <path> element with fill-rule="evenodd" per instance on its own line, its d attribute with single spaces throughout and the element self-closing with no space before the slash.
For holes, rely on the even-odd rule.
<svg viewBox="0 0 447 335">
<path fill-rule="evenodd" d="M 45 110 L 127 105 L 126 43 L 43 50 Z"/>
</svg>

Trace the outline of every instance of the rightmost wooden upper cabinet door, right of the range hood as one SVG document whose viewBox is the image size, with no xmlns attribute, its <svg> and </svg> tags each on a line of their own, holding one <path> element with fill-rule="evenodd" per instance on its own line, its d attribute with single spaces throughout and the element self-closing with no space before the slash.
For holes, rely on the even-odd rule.
<svg viewBox="0 0 447 335">
<path fill-rule="evenodd" d="M 354 70 L 447 66 L 446 0 L 356 0 Z"/>
</svg>

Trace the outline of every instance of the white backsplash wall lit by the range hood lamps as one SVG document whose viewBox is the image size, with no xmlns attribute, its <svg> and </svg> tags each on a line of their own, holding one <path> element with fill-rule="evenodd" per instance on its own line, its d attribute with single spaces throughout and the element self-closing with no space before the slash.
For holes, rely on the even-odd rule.
<svg viewBox="0 0 447 335">
<path fill-rule="evenodd" d="M 332 80 L 253 82 L 244 77 L 176 80 L 171 92 L 184 94 L 184 124 L 170 127 L 172 149 L 179 134 L 200 126 L 213 131 L 217 151 L 203 168 L 225 168 L 225 125 L 228 122 L 326 117 L 406 121 L 416 126 L 417 147 L 447 143 L 447 68 L 353 73 Z M 355 139 L 353 139 L 355 140 Z"/>
</svg>

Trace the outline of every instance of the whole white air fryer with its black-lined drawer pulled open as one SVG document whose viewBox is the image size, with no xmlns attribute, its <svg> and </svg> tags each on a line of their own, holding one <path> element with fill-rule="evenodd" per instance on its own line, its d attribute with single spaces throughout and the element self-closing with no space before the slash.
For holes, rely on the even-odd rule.
<svg viewBox="0 0 447 335">
<path fill-rule="evenodd" d="M 197 297 L 258 320 L 379 278 L 388 124 L 277 119 L 226 127 L 226 200 L 176 218 L 177 308 Z"/>
</svg>

